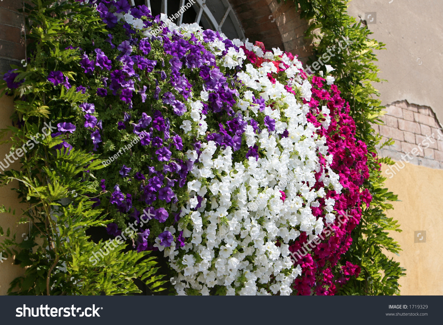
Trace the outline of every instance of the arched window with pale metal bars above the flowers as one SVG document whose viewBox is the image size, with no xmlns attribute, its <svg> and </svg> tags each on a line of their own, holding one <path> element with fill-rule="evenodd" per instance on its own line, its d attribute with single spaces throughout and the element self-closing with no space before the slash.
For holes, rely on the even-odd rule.
<svg viewBox="0 0 443 325">
<path fill-rule="evenodd" d="M 204 29 L 221 31 L 229 39 L 245 40 L 243 28 L 228 0 L 194 0 L 194 4 L 180 15 L 180 8 L 188 3 L 189 0 L 130 0 L 132 6 L 146 5 L 154 16 L 164 13 L 172 17 L 178 13 L 179 18 L 172 19 L 177 25 L 198 23 Z"/>
</svg>

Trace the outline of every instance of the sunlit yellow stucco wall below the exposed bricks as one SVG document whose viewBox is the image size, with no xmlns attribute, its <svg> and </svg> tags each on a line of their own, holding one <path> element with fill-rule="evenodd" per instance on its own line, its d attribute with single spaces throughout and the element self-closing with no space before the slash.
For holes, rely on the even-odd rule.
<svg viewBox="0 0 443 325">
<path fill-rule="evenodd" d="M 386 168 L 382 166 L 384 173 Z M 400 256 L 389 254 L 406 268 L 406 277 L 399 281 L 401 294 L 443 295 L 443 170 L 408 163 L 385 185 L 400 200 L 387 215 L 403 230 L 391 232 L 403 251 Z M 426 242 L 415 243 L 416 232 L 421 232 L 417 240 L 426 232 Z"/>
</svg>

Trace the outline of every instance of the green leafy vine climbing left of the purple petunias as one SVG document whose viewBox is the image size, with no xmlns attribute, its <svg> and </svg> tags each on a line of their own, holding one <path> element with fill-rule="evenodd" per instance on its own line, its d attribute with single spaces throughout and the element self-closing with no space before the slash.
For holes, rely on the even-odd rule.
<svg viewBox="0 0 443 325">
<path fill-rule="evenodd" d="M 105 193 L 97 193 L 93 177 L 94 171 L 103 168 L 101 159 L 85 151 L 64 147 L 56 150 L 62 140 L 52 138 L 50 129 L 43 131 L 47 124 L 54 126 L 69 118 L 62 115 L 60 107 L 73 107 L 85 100 L 85 95 L 75 92 L 74 87 L 54 89 L 47 81 L 49 71 L 53 70 L 63 70 L 70 79 L 75 77 L 69 66 L 79 56 L 75 50 L 61 50 L 66 47 L 61 46 L 61 39 L 78 35 L 78 26 L 87 26 L 88 31 L 97 33 L 104 32 L 104 26 L 92 15 L 91 8 L 76 2 L 54 4 L 35 0 L 33 4 L 25 6 L 28 38 L 33 40 L 30 48 L 35 56 L 26 68 L 13 66 L 19 73 L 16 80 L 24 78 L 14 93 L 16 111 L 12 116 L 12 120 L 22 121 L 22 126 L 8 127 L 0 133 L 3 143 L 11 144 L 12 152 L 20 148 L 24 151 L 19 158 L 22 168 L 6 170 L 0 175 L 0 183 L 2 186 L 18 183 L 13 190 L 27 207 L 18 223 L 30 223 L 31 229 L 23 240 L 11 234 L 10 229 L 4 233 L 0 228 L 0 236 L 4 237 L 0 250 L 4 250 L 7 258 L 15 256 L 16 263 L 25 269 L 23 276 L 12 281 L 8 292 L 12 295 L 141 292 L 133 279 L 144 282 L 152 292 L 162 291 L 166 281 L 162 281 L 163 275 L 158 275 L 149 252 L 137 253 L 125 243 L 95 244 L 86 234 L 89 228 L 110 222 L 105 220 L 107 213 L 103 209 L 92 209 L 96 203 L 93 200 Z M 5 86 L 2 81 L 0 90 Z M 11 213 L 11 209 L 1 206 L 0 213 Z M 99 257 L 94 260 L 94 256 Z"/>
</svg>

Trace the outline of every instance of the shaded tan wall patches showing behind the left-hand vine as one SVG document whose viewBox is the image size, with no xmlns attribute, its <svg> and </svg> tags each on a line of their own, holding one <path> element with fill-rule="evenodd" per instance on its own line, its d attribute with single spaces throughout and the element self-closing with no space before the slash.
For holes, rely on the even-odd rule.
<svg viewBox="0 0 443 325">
<path fill-rule="evenodd" d="M 8 125 L 11 125 L 11 120 L 9 117 L 13 112 L 13 103 L 12 97 L 2 97 L 0 98 L 0 128 L 6 128 Z M 2 144 L 0 145 L 0 159 L 3 160 L 5 155 L 9 153 L 9 145 Z M 19 168 L 18 163 L 14 163 L 10 168 L 14 169 Z M 0 170 L 1 172 L 1 170 Z M 17 182 L 12 182 L 8 186 L 0 187 L 0 205 L 5 205 L 6 208 L 11 207 L 12 209 L 16 209 L 16 216 L 8 213 L 0 214 L 0 227 L 3 228 L 4 232 L 6 229 L 11 228 L 12 232 L 17 232 L 17 236 L 21 237 L 23 233 L 28 233 L 29 224 L 20 225 L 19 227 L 16 225 L 16 221 L 19 220 L 19 215 L 22 213 L 22 208 L 24 205 L 19 204 L 19 200 L 17 199 L 17 193 L 12 191 L 11 188 L 18 187 Z M 27 235 L 24 235 L 23 239 L 26 239 Z M 0 241 L 3 240 L 4 237 L 0 236 Z M 1 251 L 0 251 L 1 252 Z M 4 257 L 4 256 L 3 256 Z M 13 264 L 13 258 L 8 258 L 6 261 L 3 260 L 3 263 L 0 263 L 0 295 L 5 295 L 9 289 L 9 283 L 15 279 L 17 276 L 23 274 L 23 269 L 19 267 L 19 265 Z"/>
</svg>

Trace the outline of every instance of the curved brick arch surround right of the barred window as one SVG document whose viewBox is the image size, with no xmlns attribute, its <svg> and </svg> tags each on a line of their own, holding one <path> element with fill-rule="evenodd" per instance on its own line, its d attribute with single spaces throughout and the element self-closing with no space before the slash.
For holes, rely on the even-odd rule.
<svg viewBox="0 0 443 325">
<path fill-rule="evenodd" d="M 300 18 L 298 8 L 292 1 L 277 0 L 230 0 L 250 42 L 263 42 L 267 49 L 280 50 L 298 55 L 306 62 L 312 55 L 311 43 L 304 39 L 307 21 Z"/>
</svg>

